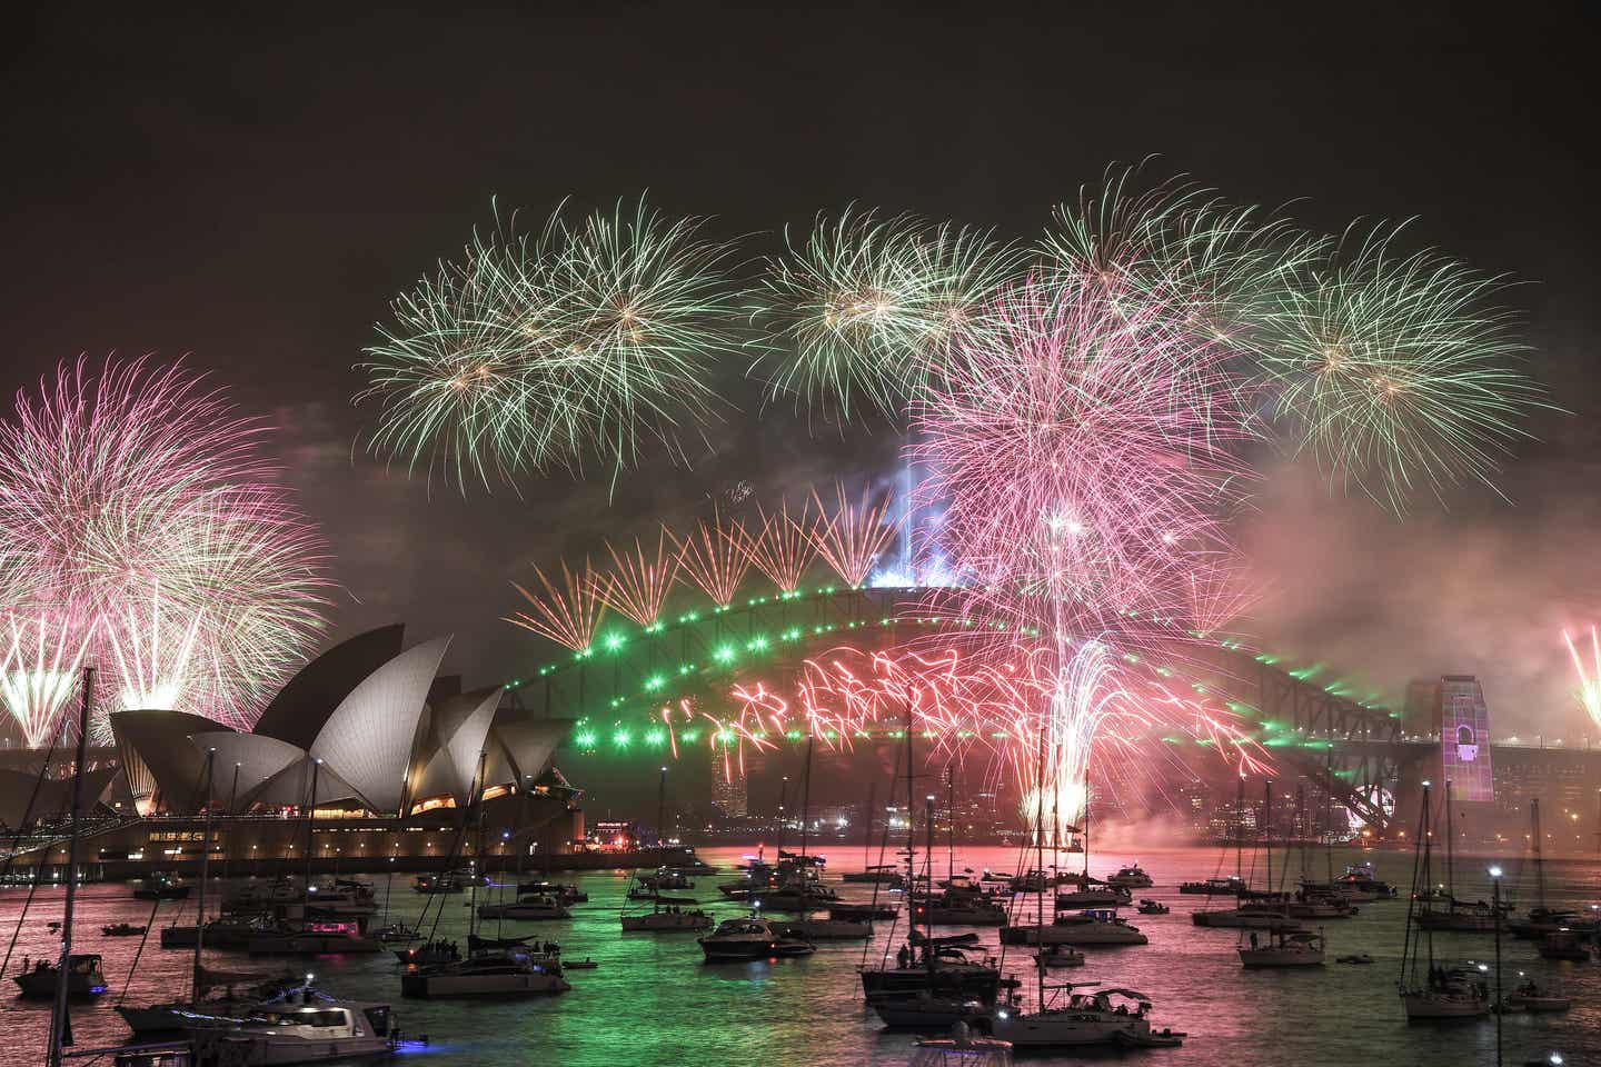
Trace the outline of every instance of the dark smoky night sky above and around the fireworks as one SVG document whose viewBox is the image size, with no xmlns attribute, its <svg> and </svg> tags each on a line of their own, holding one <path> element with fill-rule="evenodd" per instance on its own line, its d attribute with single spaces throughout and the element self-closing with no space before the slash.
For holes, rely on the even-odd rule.
<svg viewBox="0 0 1601 1067">
<path fill-rule="evenodd" d="M 648 190 L 776 248 L 849 203 L 1033 238 L 1113 162 L 1159 155 L 1308 226 L 1417 216 L 1418 245 L 1527 282 L 1539 414 L 1503 501 L 1406 523 L 1305 470 L 1242 531 L 1271 589 L 1257 630 L 1394 691 L 1471 670 L 1503 725 L 1577 737 L 1558 629 L 1601 619 L 1596 37 L 1579 5 L 970 5 L 352 16 L 53 6 L 6 26 L 0 386 L 80 352 L 189 354 L 282 427 L 287 478 L 343 585 L 338 635 L 455 632 L 469 683 L 538 657 L 498 616 L 530 561 L 759 494 L 893 469 L 884 427 L 810 435 L 736 389 L 693 470 L 463 496 L 352 448 L 352 365 L 389 298 L 490 221 Z M 599 5 L 597 5 L 599 6 Z M 1084 5 L 1089 6 L 1089 5 Z M 1399 5 L 1398 5 L 1399 6 Z M 27 21 L 27 19 L 32 21 Z M 738 370 L 738 368 L 735 368 Z"/>
</svg>

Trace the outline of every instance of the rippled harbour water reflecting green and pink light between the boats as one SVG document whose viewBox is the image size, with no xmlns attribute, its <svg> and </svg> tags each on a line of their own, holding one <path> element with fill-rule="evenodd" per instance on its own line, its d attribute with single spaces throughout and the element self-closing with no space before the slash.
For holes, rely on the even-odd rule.
<svg viewBox="0 0 1601 1067">
<path fill-rule="evenodd" d="M 703 849 L 716 875 L 701 877 L 693 893 L 717 917 L 740 913 L 716 891 L 717 881 L 733 878 L 732 867 L 749 849 Z M 860 870 L 868 861 L 861 848 L 828 848 L 831 878 L 841 870 Z M 946 854 L 935 849 L 935 875 L 945 877 Z M 1274 856 L 1274 865 L 1284 859 Z M 1412 856 L 1396 851 L 1335 851 L 1335 873 L 1346 862 L 1370 859 L 1378 875 L 1406 891 Z M 1135 915 L 1130 921 L 1150 936 L 1151 944 L 1129 949 L 1085 949 L 1089 963 L 1073 971 L 1055 971 L 1061 981 L 1100 981 L 1137 989 L 1154 1001 L 1153 1022 L 1183 1030 L 1183 1048 L 1143 1053 L 1073 1053 L 1039 1056 L 1028 1062 L 1082 1064 L 1098 1059 L 1148 1062 L 1151 1067 L 1345 1067 L 1348 1064 L 1409 1064 L 1418 1067 L 1460 1067 L 1495 1062 L 1495 1022 L 1483 1019 L 1444 1025 L 1407 1024 L 1396 997 L 1406 901 L 1361 905 L 1361 913 L 1324 925 L 1329 963 L 1300 971 L 1244 971 L 1234 955 L 1236 931 L 1204 929 L 1190 921 L 1190 912 L 1206 897 L 1178 894 L 1178 883 L 1233 872 L 1233 856 L 1218 849 L 1162 848 L 1130 853 L 1103 853 L 1092 870 L 1109 873 L 1119 864 L 1138 861 L 1156 880 L 1151 889 L 1135 891 L 1172 905 L 1170 915 Z M 1015 849 L 956 848 L 956 869 L 1015 872 Z M 1063 856 L 1065 867 L 1077 864 Z M 1292 859 L 1292 862 L 1295 862 Z M 1324 857 L 1313 856 L 1313 877 L 1322 877 Z M 1518 861 L 1507 867 L 1508 889 L 1516 891 L 1519 909 L 1532 899 Z M 1459 859 L 1457 896 L 1489 896 L 1484 864 Z M 1260 875 L 1260 870 L 1258 870 Z M 1601 862 L 1545 864 L 1548 896 L 1553 904 L 1588 907 L 1601 902 Z M 572 920 L 504 923 L 490 934 L 528 934 L 562 944 L 568 958 L 591 957 L 594 971 L 568 974 L 572 990 L 525 1001 L 413 1001 L 400 998 L 394 957 L 327 957 L 295 960 L 293 966 L 314 973 L 319 987 L 359 998 L 389 1000 L 408 1037 L 426 1033 L 429 1046 L 407 1059 L 439 1064 L 541 1064 L 541 1067 L 616 1067 L 623 1064 L 692 1064 L 749 1067 L 751 1064 L 815 1064 L 857 1067 L 861 1064 L 905 1064 L 913 1037 L 884 1032 L 877 1017 L 861 1003 L 857 968 L 893 953 L 905 926 L 890 923 L 863 942 L 823 942 L 812 957 L 780 961 L 706 965 L 693 934 L 623 934 L 618 913 L 629 885 L 628 872 L 594 872 L 564 880 L 589 893 L 588 904 L 573 909 Z M 508 878 L 509 881 L 509 878 Z M 1524 880 L 1527 881 L 1527 880 Z M 384 897 L 384 878 L 375 880 Z M 1532 883 L 1529 883 L 1532 885 Z M 488 893 L 495 893 L 490 889 Z M 866 897 L 871 886 L 844 886 L 849 899 Z M 0 891 L 0 934 L 8 941 L 16 928 L 26 889 Z M 0 1065 L 22 1067 L 43 1061 L 48 1005 L 14 997 L 16 974 L 24 957 L 56 952 L 56 936 L 46 923 L 61 917 L 59 889 L 40 889 L 22 923 L 5 990 L 0 992 Z M 392 883 L 391 920 L 413 921 L 424 897 L 410 888 L 410 877 Z M 1222 907 L 1222 902 L 1217 902 Z M 437 905 L 435 905 L 437 909 Z M 431 909 L 431 915 L 435 909 Z M 191 923 L 194 902 L 160 905 L 155 923 Z M 144 925 L 150 904 L 131 899 L 126 885 L 90 885 L 78 896 L 77 952 L 101 952 L 110 993 L 93 1006 L 75 1006 L 72 1024 L 80 1048 L 107 1045 L 126 1037 L 112 1006 L 170 998 L 186 989 L 191 953 L 163 950 L 155 931 L 138 966 L 133 957 L 138 937 L 102 937 L 106 923 Z M 1033 910 L 1029 910 L 1033 917 Z M 945 928 L 937 933 L 961 933 Z M 983 944 L 999 952 L 994 929 L 978 931 Z M 445 901 L 439 936 L 463 945 L 467 936 L 466 894 Z M 1492 961 L 1489 934 L 1436 934 L 1436 953 L 1447 961 Z M 1343 953 L 1369 953 L 1370 966 L 1334 963 Z M 1559 963 L 1542 960 L 1527 941 L 1503 939 L 1503 974 L 1508 989 L 1519 971 L 1556 984 L 1574 997 L 1566 1014 L 1508 1014 L 1503 1019 L 1505 1062 L 1523 1064 L 1559 1049 L 1569 1064 L 1601 1064 L 1601 963 Z M 224 969 L 269 971 L 279 960 L 250 960 L 235 953 L 208 953 L 208 965 Z M 1033 968 L 1026 955 L 1009 950 L 1005 969 L 1025 981 L 1028 1005 L 1034 1003 Z"/>
</svg>

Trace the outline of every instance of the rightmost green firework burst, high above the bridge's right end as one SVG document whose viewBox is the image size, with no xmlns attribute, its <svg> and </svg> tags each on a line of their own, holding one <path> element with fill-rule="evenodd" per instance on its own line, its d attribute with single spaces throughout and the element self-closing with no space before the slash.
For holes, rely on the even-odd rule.
<svg viewBox="0 0 1601 1067">
<path fill-rule="evenodd" d="M 1513 317 L 1489 304 L 1503 282 L 1396 238 L 1350 232 L 1286 286 L 1260 368 L 1295 446 L 1401 512 L 1414 490 L 1491 485 L 1540 390 L 1510 358 Z"/>
</svg>

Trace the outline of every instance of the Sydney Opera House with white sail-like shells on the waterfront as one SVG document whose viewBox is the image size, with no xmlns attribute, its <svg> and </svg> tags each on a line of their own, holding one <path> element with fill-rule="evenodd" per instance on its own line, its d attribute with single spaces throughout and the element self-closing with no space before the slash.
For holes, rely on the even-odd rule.
<svg viewBox="0 0 1601 1067">
<path fill-rule="evenodd" d="M 429 869 L 459 856 L 474 790 L 484 805 L 469 837 L 479 848 L 482 822 L 487 857 L 567 851 L 583 813 L 551 758 L 570 723 L 500 686 L 463 691 L 439 673 L 448 646 L 407 648 L 402 625 L 352 637 L 301 669 L 251 733 L 183 712 L 114 712 L 115 747 L 85 766 L 96 830 L 83 857 L 107 877 L 192 867 L 210 814 L 213 861 L 240 872 L 301 867 L 307 840 L 317 869 Z M 70 800 L 69 768 L 42 784 L 37 763 L 11 755 L 0 824 L 37 841 L 14 865 L 54 865 L 48 827 Z"/>
</svg>

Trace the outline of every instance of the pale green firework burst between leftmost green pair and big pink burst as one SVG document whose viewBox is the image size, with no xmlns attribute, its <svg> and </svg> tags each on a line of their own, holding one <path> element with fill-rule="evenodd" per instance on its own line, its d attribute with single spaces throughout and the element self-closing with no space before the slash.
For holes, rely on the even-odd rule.
<svg viewBox="0 0 1601 1067">
<path fill-rule="evenodd" d="M 900 421 L 1017 266 L 1018 251 L 988 232 L 911 216 L 818 216 L 802 245 L 768 261 L 764 318 L 783 360 L 772 394 L 837 406 L 847 419 L 869 408 Z"/>
</svg>

